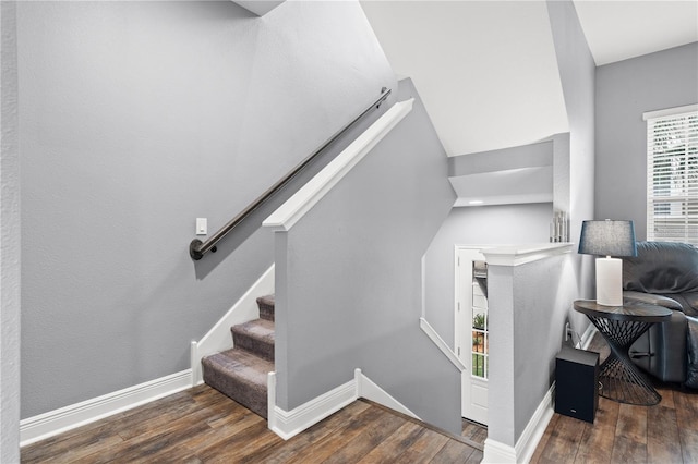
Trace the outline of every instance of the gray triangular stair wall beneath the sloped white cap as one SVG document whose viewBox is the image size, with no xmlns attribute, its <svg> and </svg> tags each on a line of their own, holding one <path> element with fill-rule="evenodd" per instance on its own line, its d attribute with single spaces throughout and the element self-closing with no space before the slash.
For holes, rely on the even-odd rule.
<svg viewBox="0 0 698 464">
<path fill-rule="evenodd" d="M 400 82 L 400 100 L 414 96 Z M 421 258 L 454 193 L 419 99 L 288 232 L 277 232 L 277 401 L 285 410 L 370 379 L 460 431 L 460 373 L 419 328 Z M 286 354 L 286 355 L 284 355 Z"/>
</svg>

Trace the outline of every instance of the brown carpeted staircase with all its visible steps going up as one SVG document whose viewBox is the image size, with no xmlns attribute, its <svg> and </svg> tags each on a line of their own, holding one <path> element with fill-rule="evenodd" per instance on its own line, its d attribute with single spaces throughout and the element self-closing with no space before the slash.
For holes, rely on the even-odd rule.
<svg viewBox="0 0 698 464">
<path fill-rule="evenodd" d="M 274 370 L 274 295 L 257 298 L 260 319 L 233 326 L 233 347 L 202 359 L 204 382 L 262 417 Z"/>
</svg>

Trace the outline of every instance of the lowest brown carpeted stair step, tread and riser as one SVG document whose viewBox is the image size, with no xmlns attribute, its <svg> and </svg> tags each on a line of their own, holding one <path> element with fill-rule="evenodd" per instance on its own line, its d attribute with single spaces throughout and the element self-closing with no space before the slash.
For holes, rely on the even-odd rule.
<svg viewBox="0 0 698 464">
<path fill-rule="evenodd" d="M 222 394 L 267 417 L 267 374 L 274 363 L 232 349 L 202 359 L 204 381 Z"/>
</svg>

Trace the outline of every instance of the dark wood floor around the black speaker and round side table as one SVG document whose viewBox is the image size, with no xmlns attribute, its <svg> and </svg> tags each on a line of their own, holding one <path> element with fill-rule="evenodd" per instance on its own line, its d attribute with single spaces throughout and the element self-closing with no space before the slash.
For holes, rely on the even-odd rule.
<svg viewBox="0 0 698 464">
<path fill-rule="evenodd" d="M 599 334 L 590 351 L 605 358 Z M 654 406 L 599 398 L 593 425 L 554 414 L 531 463 L 698 463 L 698 392 L 657 382 Z"/>
</svg>

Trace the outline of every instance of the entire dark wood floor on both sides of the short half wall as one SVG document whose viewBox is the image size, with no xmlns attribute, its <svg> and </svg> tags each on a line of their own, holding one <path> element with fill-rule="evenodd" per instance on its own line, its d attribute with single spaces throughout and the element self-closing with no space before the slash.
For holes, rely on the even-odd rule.
<svg viewBox="0 0 698 464">
<path fill-rule="evenodd" d="M 607 349 L 594 339 L 590 350 Z M 655 406 L 599 399 L 594 424 L 554 414 L 532 463 L 698 463 L 698 392 L 657 384 Z M 476 463 L 486 429 L 462 438 L 357 401 L 284 441 L 201 386 L 22 449 L 23 463 Z"/>
</svg>

